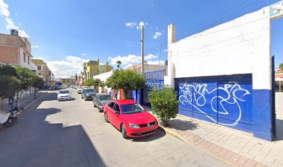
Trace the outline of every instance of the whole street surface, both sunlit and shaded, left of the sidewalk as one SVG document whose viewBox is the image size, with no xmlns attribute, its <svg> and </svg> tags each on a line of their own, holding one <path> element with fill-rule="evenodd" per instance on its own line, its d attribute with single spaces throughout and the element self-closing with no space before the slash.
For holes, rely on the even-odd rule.
<svg viewBox="0 0 283 167">
<path fill-rule="evenodd" d="M 0 166 L 226 166 L 193 145 L 159 131 L 124 139 L 70 89 L 74 100 L 58 102 L 49 92 L 0 129 Z"/>
</svg>

